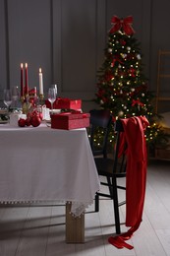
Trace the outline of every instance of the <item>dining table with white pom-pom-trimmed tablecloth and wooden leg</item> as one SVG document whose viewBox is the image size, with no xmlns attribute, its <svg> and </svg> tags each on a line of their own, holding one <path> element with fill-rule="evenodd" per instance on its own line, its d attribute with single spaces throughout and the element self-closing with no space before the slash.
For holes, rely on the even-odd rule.
<svg viewBox="0 0 170 256">
<path fill-rule="evenodd" d="M 0 124 L 0 203 L 66 205 L 66 242 L 85 242 L 85 210 L 99 178 L 85 128 Z"/>
</svg>

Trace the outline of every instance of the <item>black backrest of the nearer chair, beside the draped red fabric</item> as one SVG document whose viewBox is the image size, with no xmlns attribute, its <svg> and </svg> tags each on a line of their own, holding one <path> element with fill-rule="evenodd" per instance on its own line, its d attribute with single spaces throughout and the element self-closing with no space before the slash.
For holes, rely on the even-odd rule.
<svg viewBox="0 0 170 256">
<path fill-rule="evenodd" d="M 123 173 L 126 173 L 126 164 L 127 164 L 127 158 L 126 158 L 127 145 L 122 144 L 121 142 L 123 138 L 121 134 L 124 132 L 124 127 L 121 120 L 118 119 L 115 122 L 114 130 L 116 132 L 116 141 L 114 146 L 113 172 L 117 172 L 117 173 L 119 172 L 121 176 Z M 121 156 L 120 156 L 120 153 L 121 153 Z"/>
</svg>

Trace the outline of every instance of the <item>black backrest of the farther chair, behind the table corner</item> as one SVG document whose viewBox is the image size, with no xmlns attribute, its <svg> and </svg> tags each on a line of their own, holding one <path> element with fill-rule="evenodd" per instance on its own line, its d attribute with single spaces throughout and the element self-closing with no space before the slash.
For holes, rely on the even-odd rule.
<svg viewBox="0 0 170 256">
<path fill-rule="evenodd" d="M 90 146 L 93 156 L 103 155 L 107 158 L 107 142 L 110 127 L 112 124 L 112 115 L 107 109 L 92 109 L 90 113 Z M 100 146 L 95 145 L 94 136 L 95 133 L 99 131 L 101 138 L 97 138 L 100 141 Z"/>
</svg>

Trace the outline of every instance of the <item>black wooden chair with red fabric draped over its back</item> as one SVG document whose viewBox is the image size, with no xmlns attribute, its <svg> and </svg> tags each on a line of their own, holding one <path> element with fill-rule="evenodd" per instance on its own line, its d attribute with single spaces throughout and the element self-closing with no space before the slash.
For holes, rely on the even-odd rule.
<svg viewBox="0 0 170 256">
<path fill-rule="evenodd" d="M 102 119 L 102 116 L 100 117 Z M 93 119 L 91 117 L 91 119 Z M 109 132 L 110 124 L 108 123 L 107 131 Z M 118 158 L 119 149 L 120 149 L 120 135 L 124 132 L 122 122 L 117 120 L 115 123 L 115 136 L 116 142 L 114 145 L 114 154 L 113 158 L 107 158 L 106 149 L 103 150 L 104 154 L 102 157 L 95 158 L 94 152 L 94 160 L 96 163 L 97 171 L 99 176 L 105 176 L 106 182 L 101 181 L 100 184 L 107 186 L 109 188 L 108 193 L 97 192 L 95 196 L 95 212 L 99 211 L 99 197 L 106 197 L 113 200 L 114 206 L 114 216 L 115 216 L 115 225 L 116 225 L 116 233 L 121 233 L 120 227 L 120 216 L 119 216 L 119 207 L 124 205 L 126 202 L 119 202 L 118 200 L 118 189 L 126 190 L 125 186 L 120 186 L 117 184 L 118 178 L 126 177 L 126 149 L 124 149 L 121 158 Z M 108 133 L 106 138 L 108 138 Z M 90 138 L 90 144 L 93 138 Z M 104 145 L 107 145 L 104 142 Z"/>
</svg>

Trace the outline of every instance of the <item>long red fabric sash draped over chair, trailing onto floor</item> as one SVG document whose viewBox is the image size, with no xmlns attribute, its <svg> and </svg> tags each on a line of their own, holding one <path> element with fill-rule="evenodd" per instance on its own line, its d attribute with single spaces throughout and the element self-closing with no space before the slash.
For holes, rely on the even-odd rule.
<svg viewBox="0 0 170 256">
<path fill-rule="evenodd" d="M 146 181 L 146 145 L 144 130 L 149 125 L 143 116 L 121 119 L 124 133 L 121 134 L 121 149 L 125 143 L 127 150 L 127 177 L 126 177 L 126 225 L 131 228 L 118 236 L 109 237 L 108 241 L 117 248 L 133 249 L 125 240 L 131 238 L 142 222 L 142 210 L 145 195 Z"/>
</svg>

